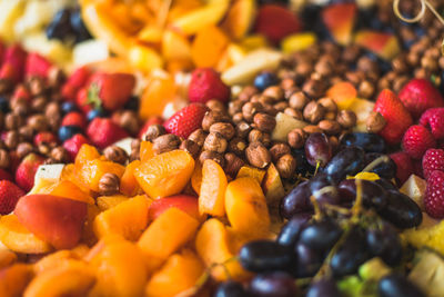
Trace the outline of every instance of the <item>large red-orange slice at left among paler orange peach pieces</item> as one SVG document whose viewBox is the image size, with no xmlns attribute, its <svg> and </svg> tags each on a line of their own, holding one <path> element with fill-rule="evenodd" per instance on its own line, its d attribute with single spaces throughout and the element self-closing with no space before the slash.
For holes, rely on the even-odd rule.
<svg viewBox="0 0 444 297">
<path fill-rule="evenodd" d="M 58 249 L 77 245 L 87 219 L 87 204 L 52 195 L 28 195 L 14 214 L 26 228 Z"/>
</svg>

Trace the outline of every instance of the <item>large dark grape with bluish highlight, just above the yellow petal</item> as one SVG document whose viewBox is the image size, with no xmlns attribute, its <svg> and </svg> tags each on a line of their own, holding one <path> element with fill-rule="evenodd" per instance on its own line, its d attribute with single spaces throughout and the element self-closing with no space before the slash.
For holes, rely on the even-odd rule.
<svg viewBox="0 0 444 297">
<path fill-rule="evenodd" d="M 359 147 L 344 148 L 330 160 L 323 172 L 339 184 L 347 175 L 354 176 L 364 168 L 364 150 Z"/>
</svg>

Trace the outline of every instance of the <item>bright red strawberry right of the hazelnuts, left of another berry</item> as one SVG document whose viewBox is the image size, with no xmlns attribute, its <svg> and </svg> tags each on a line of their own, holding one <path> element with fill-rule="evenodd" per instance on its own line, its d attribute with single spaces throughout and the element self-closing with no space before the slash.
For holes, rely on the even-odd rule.
<svg viewBox="0 0 444 297">
<path fill-rule="evenodd" d="M 408 110 L 405 109 L 396 95 L 387 89 L 381 91 L 373 110 L 379 111 L 386 121 L 380 135 L 387 143 L 397 145 L 405 130 L 413 123 Z"/>
</svg>

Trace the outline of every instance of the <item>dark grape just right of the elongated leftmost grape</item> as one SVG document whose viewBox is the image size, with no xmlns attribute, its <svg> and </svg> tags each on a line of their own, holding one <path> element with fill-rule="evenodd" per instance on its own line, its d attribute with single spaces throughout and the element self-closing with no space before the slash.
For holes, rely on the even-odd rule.
<svg viewBox="0 0 444 297">
<path fill-rule="evenodd" d="M 293 269 L 295 277 L 312 277 L 321 268 L 323 257 L 320 251 L 309 248 L 304 244 L 297 244 L 294 253 L 297 263 Z"/>
</svg>

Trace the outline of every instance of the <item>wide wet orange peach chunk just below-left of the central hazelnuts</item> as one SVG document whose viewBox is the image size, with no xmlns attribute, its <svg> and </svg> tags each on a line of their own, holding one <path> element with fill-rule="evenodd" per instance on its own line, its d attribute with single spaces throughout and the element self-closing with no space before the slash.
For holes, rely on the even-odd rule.
<svg viewBox="0 0 444 297">
<path fill-rule="evenodd" d="M 159 199 L 180 194 L 189 182 L 194 159 L 184 150 L 154 156 L 135 168 L 134 176 L 149 197 Z"/>
</svg>

